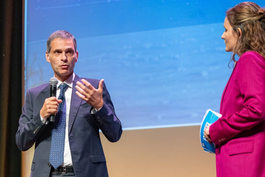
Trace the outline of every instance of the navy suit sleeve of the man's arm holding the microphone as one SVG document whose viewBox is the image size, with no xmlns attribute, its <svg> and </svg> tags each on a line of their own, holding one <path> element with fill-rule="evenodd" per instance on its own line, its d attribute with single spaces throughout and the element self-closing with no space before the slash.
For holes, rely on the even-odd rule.
<svg viewBox="0 0 265 177">
<path fill-rule="evenodd" d="M 47 124 L 41 122 L 39 111 L 34 114 L 30 90 L 26 93 L 26 99 L 19 118 L 19 127 L 16 132 L 17 147 L 26 151 L 37 141 Z"/>
</svg>

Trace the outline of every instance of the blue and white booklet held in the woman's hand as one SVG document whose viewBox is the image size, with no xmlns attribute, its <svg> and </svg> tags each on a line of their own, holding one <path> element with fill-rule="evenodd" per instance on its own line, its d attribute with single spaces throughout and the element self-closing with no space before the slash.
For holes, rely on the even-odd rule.
<svg viewBox="0 0 265 177">
<path fill-rule="evenodd" d="M 221 116 L 222 116 L 221 114 L 208 109 L 203 117 L 200 129 L 200 140 L 201 140 L 201 146 L 202 148 L 204 148 L 205 152 L 215 153 L 215 144 L 214 143 L 210 144 L 206 140 L 204 136 L 204 130 L 207 125 L 214 123 Z"/>
</svg>

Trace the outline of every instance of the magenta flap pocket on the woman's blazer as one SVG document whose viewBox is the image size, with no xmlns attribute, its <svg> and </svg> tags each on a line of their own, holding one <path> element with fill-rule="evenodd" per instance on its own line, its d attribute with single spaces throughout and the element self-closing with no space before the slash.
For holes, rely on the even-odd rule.
<svg viewBox="0 0 265 177">
<path fill-rule="evenodd" d="M 252 153 L 254 148 L 253 140 L 236 141 L 229 143 L 228 154 L 233 156 L 236 154 Z"/>
</svg>

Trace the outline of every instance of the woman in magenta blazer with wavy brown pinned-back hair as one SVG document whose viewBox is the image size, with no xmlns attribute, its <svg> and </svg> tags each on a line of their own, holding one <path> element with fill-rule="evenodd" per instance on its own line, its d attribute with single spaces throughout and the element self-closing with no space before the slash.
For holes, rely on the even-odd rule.
<svg viewBox="0 0 265 177">
<path fill-rule="evenodd" d="M 221 99 L 222 117 L 206 127 L 205 136 L 216 145 L 217 177 L 265 176 L 265 9 L 242 2 L 226 15 L 222 38 L 234 68 Z"/>
</svg>

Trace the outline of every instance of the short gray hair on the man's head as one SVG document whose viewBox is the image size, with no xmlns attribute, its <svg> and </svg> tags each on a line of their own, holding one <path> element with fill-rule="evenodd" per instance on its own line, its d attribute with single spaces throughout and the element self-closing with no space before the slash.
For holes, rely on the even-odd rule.
<svg viewBox="0 0 265 177">
<path fill-rule="evenodd" d="M 47 45 L 46 45 L 46 50 L 47 50 L 48 54 L 50 54 L 50 52 L 51 52 L 51 42 L 56 38 L 72 39 L 73 43 L 74 43 L 74 51 L 76 52 L 76 38 L 74 38 L 74 36 L 71 33 L 69 33 L 68 31 L 58 30 L 58 31 L 51 33 L 51 35 L 48 37 Z"/>
</svg>

